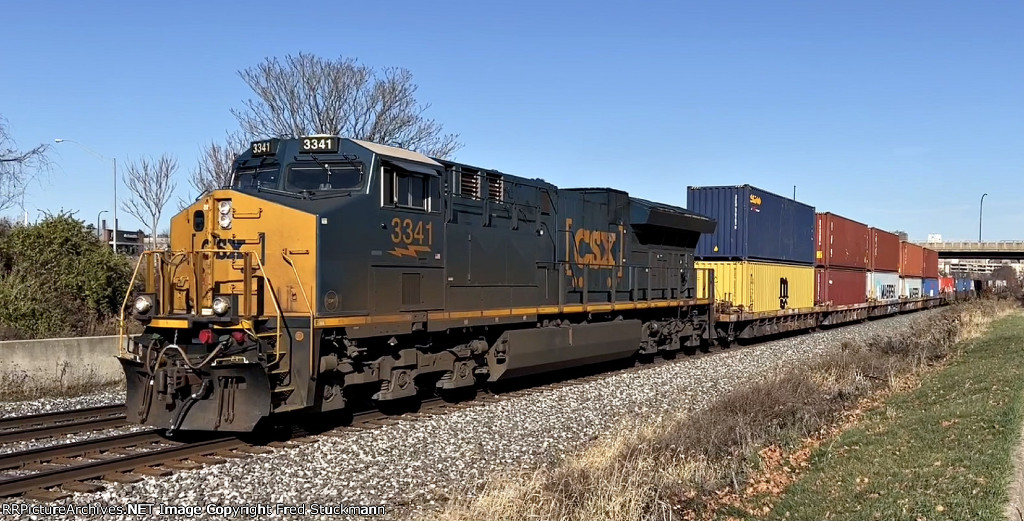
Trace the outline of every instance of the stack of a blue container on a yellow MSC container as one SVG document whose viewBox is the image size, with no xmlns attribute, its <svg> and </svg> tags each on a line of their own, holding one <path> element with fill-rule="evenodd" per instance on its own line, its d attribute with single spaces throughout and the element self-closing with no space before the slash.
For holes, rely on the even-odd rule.
<svg viewBox="0 0 1024 521">
<path fill-rule="evenodd" d="M 715 299 L 758 313 L 814 306 L 814 207 L 741 186 L 690 186 L 687 208 L 718 221 L 701 235 L 697 297 L 715 270 Z"/>
</svg>

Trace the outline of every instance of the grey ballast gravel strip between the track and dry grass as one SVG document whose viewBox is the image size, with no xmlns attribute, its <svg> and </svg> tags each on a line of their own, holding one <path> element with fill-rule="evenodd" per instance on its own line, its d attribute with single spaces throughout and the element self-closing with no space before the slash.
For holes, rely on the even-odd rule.
<svg viewBox="0 0 1024 521">
<path fill-rule="evenodd" d="M 399 422 L 341 436 L 321 436 L 295 448 L 134 484 L 109 484 L 56 505 L 152 503 L 197 507 L 191 516 L 161 519 L 253 519 L 225 516 L 208 505 L 269 505 L 271 519 L 353 519 L 357 516 L 275 515 L 275 505 L 380 506 L 384 519 L 429 512 L 444 498 L 496 472 L 536 469 L 577 451 L 626 421 L 693 410 L 744 382 L 838 348 L 844 341 L 901 332 L 935 311 L 900 315 L 719 352 L 639 372 L 541 391 L 443 416 Z M 0 516 L 2 517 L 2 516 Z M 29 518 L 32 518 L 31 516 Z M 37 516 L 45 519 L 46 516 Z M 89 519 L 140 519 L 98 515 Z M 261 518 L 268 518 L 261 516 Z M 378 518 L 379 519 L 379 518 Z"/>
</svg>

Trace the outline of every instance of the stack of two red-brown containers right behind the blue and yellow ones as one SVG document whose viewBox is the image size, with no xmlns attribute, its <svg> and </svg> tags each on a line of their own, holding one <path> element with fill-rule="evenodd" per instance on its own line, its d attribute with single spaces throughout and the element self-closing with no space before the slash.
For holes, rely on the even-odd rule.
<svg viewBox="0 0 1024 521">
<path fill-rule="evenodd" d="M 848 306 L 866 302 L 867 225 L 834 213 L 819 213 L 814 237 L 814 304 Z"/>
</svg>

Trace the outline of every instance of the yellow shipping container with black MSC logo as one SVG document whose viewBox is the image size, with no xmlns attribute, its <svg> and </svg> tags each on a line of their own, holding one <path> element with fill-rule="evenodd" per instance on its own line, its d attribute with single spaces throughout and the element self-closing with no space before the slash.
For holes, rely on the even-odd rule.
<svg viewBox="0 0 1024 521">
<path fill-rule="evenodd" d="M 814 307 L 814 266 L 771 262 L 696 261 L 697 298 L 708 298 L 707 271 L 715 270 L 715 300 L 751 313 Z"/>
</svg>

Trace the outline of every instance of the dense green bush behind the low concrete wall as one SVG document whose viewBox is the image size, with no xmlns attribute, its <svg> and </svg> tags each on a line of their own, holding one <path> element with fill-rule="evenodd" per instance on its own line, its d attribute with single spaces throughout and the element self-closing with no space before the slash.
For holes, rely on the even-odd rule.
<svg viewBox="0 0 1024 521">
<path fill-rule="evenodd" d="M 0 225 L 0 339 L 111 334 L 131 280 L 128 258 L 70 214 Z"/>
</svg>

